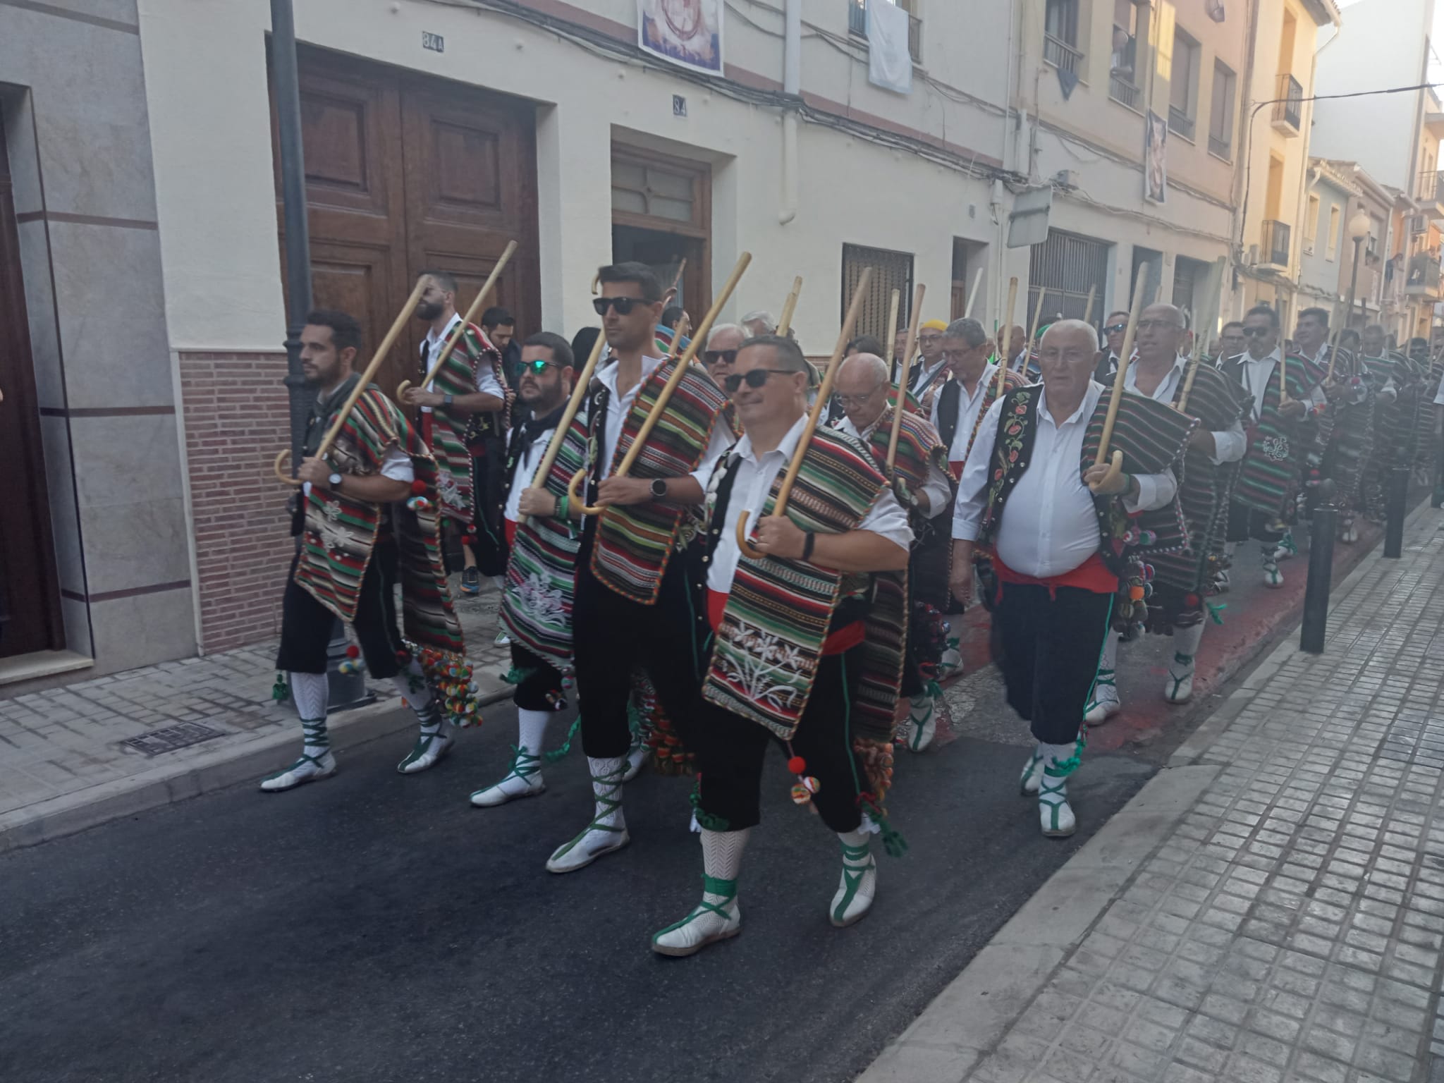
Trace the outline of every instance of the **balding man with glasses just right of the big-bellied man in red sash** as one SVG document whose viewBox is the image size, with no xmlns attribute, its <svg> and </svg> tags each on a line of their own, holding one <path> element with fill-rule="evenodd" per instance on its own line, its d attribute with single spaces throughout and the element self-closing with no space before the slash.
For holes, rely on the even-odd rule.
<svg viewBox="0 0 1444 1083">
<path fill-rule="evenodd" d="M 1177 407 L 1188 381 L 1188 360 L 1180 352 L 1184 339 L 1183 313 L 1177 308 L 1149 305 L 1144 309 L 1138 321 L 1138 357 L 1128 367 L 1123 387 Z M 1151 559 L 1154 593 L 1148 605 L 1148 630 L 1174 637 L 1174 657 L 1168 663 L 1164 686 L 1164 699 L 1170 703 L 1187 703 L 1193 697 L 1194 657 L 1207 622 L 1203 596 L 1213 582 L 1216 556 L 1223 543 L 1222 536 L 1214 537 L 1216 524 L 1233 488 L 1236 464 L 1248 446 L 1242 422 L 1248 412 L 1246 394 L 1219 370 L 1204 364 L 1197 367 L 1183 407 L 1190 417 L 1199 419 L 1199 427 L 1188 438 L 1178 501 L 1184 510 L 1188 546 L 1157 553 Z M 1171 523 L 1139 523 L 1141 530 L 1155 533 L 1173 527 Z M 1090 726 L 1106 722 L 1121 706 L 1113 677 L 1118 641 L 1119 637 L 1109 632 L 1084 716 Z"/>
</svg>

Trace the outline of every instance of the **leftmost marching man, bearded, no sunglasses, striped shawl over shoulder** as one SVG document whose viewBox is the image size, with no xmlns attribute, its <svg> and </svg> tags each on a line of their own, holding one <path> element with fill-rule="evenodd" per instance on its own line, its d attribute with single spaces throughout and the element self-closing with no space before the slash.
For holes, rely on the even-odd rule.
<svg viewBox="0 0 1444 1083">
<path fill-rule="evenodd" d="M 336 771 L 326 734 L 326 647 L 336 618 L 348 622 L 377 680 L 390 677 L 416 712 L 422 732 L 399 765 L 425 771 L 452 745 L 451 721 L 433 696 L 439 669 L 462 664 L 461 624 L 452 612 L 435 501 L 438 471 L 404 414 L 380 388 L 361 391 L 329 455 L 322 438 L 360 374 L 351 371 L 361 328 L 344 312 L 316 310 L 300 332 L 300 364 L 316 401 L 306 423 L 303 482 L 293 533 L 302 546 L 282 598 L 276 669 L 289 671 L 300 713 L 300 758 L 270 775 L 274 793 Z M 400 504 L 406 501 L 406 504 Z M 400 578 L 406 637 L 396 631 L 394 586 Z M 422 661 L 433 658 L 430 670 Z M 455 690 L 453 696 L 455 697 Z M 469 705 L 468 715 L 475 712 Z M 472 721 L 472 719 L 461 719 Z"/>
</svg>

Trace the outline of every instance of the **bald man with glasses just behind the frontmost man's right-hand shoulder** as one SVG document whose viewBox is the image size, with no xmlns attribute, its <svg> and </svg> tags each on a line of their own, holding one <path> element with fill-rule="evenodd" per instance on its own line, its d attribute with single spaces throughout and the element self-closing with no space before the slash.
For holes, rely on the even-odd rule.
<svg viewBox="0 0 1444 1083">
<path fill-rule="evenodd" d="M 888 406 L 888 364 L 874 354 L 856 354 L 838 370 L 838 400 L 846 412 L 833 427 L 868 446 L 872 459 L 888 474 L 888 443 L 892 436 L 894 409 Z M 915 413 L 904 410 L 898 426 L 895 471 L 890 478 L 894 492 L 911 508 L 913 557 L 908 562 L 908 593 L 913 602 L 924 602 L 939 614 L 952 606 L 947 596 L 947 560 L 950 529 L 943 520 L 941 530 L 931 526 L 953 504 L 953 478 L 947 472 L 947 449 L 937 430 Z M 913 606 L 908 606 L 911 612 Z M 924 624 L 930 624 L 931 614 Z M 937 686 L 936 651 L 923 647 L 921 635 L 908 637 L 908 664 L 902 671 L 902 699 L 907 700 L 907 747 L 921 752 L 937 732 L 937 708 L 941 689 Z M 901 715 L 901 706 L 900 712 Z"/>
</svg>

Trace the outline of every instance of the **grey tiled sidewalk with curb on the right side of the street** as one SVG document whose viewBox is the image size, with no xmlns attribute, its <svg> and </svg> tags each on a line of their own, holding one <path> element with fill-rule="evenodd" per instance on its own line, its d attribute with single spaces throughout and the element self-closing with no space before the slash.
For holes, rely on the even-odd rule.
<svg viewBox="0 0 1444 1083">
<path fill-rule="evenodd" d="M 1324 654 L 1282 643 L 865 1083 L 1444 1079 L 1440 520 L 1367 557 Z"/>
</svg>

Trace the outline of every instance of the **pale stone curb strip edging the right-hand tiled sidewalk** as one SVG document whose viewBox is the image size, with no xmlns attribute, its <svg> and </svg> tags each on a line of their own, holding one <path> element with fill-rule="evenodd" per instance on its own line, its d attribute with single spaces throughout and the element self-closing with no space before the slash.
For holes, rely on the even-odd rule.
<svg viewBox="0 0 1444 1083">
<path fill-rule="evenodd" d="M 1408 516 L 1405 530 L 1430 510 L 1425 500 Z M 1331 598 L 1343 598 L 1359 585 L 1372 567 L 1370 557 L 1382 559 L 1366 553 Z M 1168 764 L 1038 888 L 856 1083 L 960 1083 L 1006 1035 L 1223 770 L 1199 760 L 1297 650 L 1291 635 L 1278 643 Z"/>
</svg>

